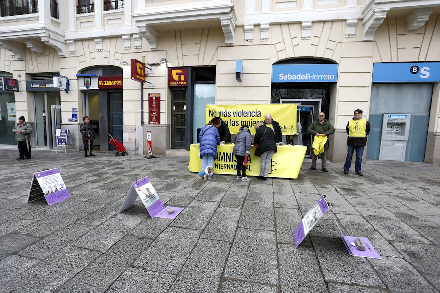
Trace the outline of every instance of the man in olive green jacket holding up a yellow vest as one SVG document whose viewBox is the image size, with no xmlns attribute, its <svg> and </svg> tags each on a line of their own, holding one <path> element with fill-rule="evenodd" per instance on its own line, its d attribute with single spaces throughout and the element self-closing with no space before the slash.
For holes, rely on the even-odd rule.
<svg viewBox="0 0 440 293">
<path fill-rule="evenodd" d="M 310 126 L 307 128 L 307 133 L 314 136 L 329 136 L 334 133 L 334 127 L 331 126 L 330 122 L 326 119 L 326 115 L 324 112 L 318 113 L 318 121 L 313 121 Z M 327 173 L 327 148 L 329 147 L 329 140 L 324 144 L 324 152 L 321 154 L 321 169 L 323 172 Z M 316 160 L 318 156 L 315 155 L 313 150 L 311 151 L 312 155 L 312 167 L 309 169 L 310 171 L 316 170 Z"/>
</svg>

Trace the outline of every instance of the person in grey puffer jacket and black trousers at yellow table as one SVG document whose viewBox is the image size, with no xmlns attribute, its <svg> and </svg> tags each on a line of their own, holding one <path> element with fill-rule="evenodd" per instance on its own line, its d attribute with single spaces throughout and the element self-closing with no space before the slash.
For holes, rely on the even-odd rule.
<svg viewBox="0 0 440 293">
<path fill-rule="evenodd" d="M 237 161 L 237 180 L 249 181 L 250 178 L 246 177 L 246 166 L 244 166 L 245 155 L 250 154 L 250 146 L 252 142 L 252 136 L 250 134 L 249 126 L 244 124 L 239 129 L 239 133 L 234 136 L 234 149 L 232 154 Z M 240 173 L 240 171 L 242 171 Z"/>
</svg>

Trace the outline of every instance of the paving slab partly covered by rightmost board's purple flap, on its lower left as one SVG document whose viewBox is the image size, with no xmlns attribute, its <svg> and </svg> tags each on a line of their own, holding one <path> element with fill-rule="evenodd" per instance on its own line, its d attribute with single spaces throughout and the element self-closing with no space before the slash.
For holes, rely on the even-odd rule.
<svg viewBox="0 0 440 293">
<path fill-rule="evenodd" d="M 365 258 L 350 256 L 341 238 L 311 239 L 326 281 L 385 288 Z"/>
</svg>

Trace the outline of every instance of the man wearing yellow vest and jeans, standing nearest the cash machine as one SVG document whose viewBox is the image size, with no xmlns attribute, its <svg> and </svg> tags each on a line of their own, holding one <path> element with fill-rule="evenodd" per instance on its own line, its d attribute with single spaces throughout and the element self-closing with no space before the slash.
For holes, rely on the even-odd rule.
<svg viewBox="0 0 440 293">
<path fill-rule="evenodd" d="M 344 174 L 348 174 L 354 151 L 356 151 L 355 171 L 357 175 L 363 176 L 361 173 L 362 154 L 364 153 L 364 147 L 367 145 L 370 122 L 362 118 L 362 113 L 362 110 L 355 110 L 353 119 L 350 119 L 345 127 L 349 136 L 347 138 L 347 158 L 345 158 Z"/>
</svg>

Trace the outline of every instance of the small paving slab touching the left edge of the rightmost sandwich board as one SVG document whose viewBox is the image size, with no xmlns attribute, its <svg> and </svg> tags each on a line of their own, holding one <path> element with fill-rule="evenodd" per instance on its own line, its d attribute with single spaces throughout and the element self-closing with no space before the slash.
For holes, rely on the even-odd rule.
<svg viewBox="0 0 440 293">
<path fill-rule="evenodd" d="M 295 243 L 295 228 L 303 218 L 298 209 L 275 208 L 277 242 Z"/>
</svg>

